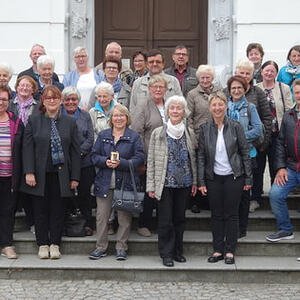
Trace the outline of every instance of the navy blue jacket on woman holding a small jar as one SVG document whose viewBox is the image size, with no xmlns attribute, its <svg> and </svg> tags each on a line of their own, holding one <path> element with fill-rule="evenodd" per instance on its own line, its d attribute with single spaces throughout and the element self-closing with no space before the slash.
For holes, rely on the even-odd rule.
<svg viewBox="0 0 300 300">
<path fill-rule="evenodd" d="M 113 169 L 106 166 L 106 160 L 110 159 L 112 151 L 118 151 L 120 159 L 120 165 L 115 169 L 117 189 L 121 188 L 122 180 L 124 179 L 126 180 L 125 189 L 132 190 L 129 160 L 132 160 L 134 169 L 137 169 L 144 163 L 143 145 L 137 132 L 127 127 L 124 135 L 115 145 L 112 129 L 102 130 L 98 135 L 91 155 L 94 166 L 99 169 L 94 182 L 94 194 L 97 197 L 107 197 L 110 188 Z M 135 180 L 138 182 L 138 176 L 135 176 Z"/>
</svg>

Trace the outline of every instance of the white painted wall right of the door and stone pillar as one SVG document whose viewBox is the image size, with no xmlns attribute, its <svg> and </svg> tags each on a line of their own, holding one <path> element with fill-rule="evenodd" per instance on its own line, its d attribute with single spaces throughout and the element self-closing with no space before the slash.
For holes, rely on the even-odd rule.
<svg viewBox="0 0 300 300">
<path fill-rule="evenodd" d="M 299 0 L 234 0 L 236 27 L 233 62 L 246 57 L 247 45 L 262 44 L 264 61 L 286 63 L 289 49 L 300 44 Z"/>
</svg>

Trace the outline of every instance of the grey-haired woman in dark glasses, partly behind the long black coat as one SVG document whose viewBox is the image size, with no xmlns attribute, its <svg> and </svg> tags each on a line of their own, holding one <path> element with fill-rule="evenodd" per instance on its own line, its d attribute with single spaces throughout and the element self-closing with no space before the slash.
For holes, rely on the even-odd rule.
<svg viewBox="0 0 300 300">
<path fill-rule="evenodd" d="M 94 145 L 94 130 L 88 112 L 80 109 L 80 93 L 76 87 L 68 86 L 62 92 L 62 113 L 76 120 L 81 157 L 80 183 L 78 185 L 77 204 L 85 218 L 85 234 L 93 234 L 92 203 L 90 190 L 94 180 L 94 167 L 91 162 L 91 150 Z"/>
</svg>

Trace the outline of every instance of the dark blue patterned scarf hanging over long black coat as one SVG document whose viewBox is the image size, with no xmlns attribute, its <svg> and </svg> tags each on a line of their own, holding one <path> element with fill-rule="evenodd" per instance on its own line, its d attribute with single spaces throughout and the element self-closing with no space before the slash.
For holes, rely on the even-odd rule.
<svg viewBox="0 0 300 300">
<path fill-rule="evenodd" d="M 61 138 L 56 127 L 57 116 L 51 118 L 51 136 L 50 136 L 50 149 L 52 163 L 54 166 L 62 165 L 65 162 L 64 151 L 61 144 Z"/>
</svg>

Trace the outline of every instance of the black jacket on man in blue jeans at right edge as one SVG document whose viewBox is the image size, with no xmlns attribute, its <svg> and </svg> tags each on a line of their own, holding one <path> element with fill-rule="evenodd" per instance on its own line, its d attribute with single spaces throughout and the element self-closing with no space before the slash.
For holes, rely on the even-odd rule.
<svg viewBox="0 0 300 300">
<path fill-rule="evenodd" d="M 295 108 L 283 115 L 276 142 L 275 170 L 290 168 L 300 171 L 300 120 Z"/>
</svg>

